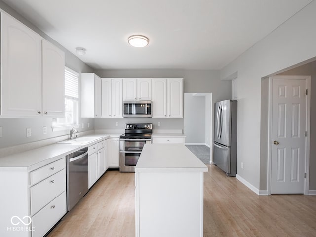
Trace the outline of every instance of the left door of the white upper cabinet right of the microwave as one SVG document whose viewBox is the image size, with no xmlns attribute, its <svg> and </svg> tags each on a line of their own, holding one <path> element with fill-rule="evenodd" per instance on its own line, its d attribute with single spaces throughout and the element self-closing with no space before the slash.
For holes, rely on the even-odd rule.
<svg viewBox="0 0 316 237">
<path fill-rule="evenodd" d="M 152 79 L 153 118 L 167 116 L 167 79 Z"/>
</svg>

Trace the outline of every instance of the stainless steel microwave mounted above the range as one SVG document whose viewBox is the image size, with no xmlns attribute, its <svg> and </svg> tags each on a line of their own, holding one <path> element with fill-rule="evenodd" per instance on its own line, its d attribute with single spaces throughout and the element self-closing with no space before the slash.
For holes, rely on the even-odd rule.
<svg viewBox="0 0 316 237">
<path fill-rule="evenodd" d="M 123 117 L 152 117 L 152 101 L 123 101 Z"/>
</svg>

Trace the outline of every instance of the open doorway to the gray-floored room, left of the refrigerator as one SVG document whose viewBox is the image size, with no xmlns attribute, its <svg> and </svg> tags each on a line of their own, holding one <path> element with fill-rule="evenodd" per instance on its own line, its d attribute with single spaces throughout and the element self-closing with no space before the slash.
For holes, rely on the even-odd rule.
<svg viewBox="0 0 316 237">
<path fill-rule="evenodd" d="M 212 160 L 212 104 L 212 93 L 184 94 L 185 145 L 205 164 Z"/>
</svg>

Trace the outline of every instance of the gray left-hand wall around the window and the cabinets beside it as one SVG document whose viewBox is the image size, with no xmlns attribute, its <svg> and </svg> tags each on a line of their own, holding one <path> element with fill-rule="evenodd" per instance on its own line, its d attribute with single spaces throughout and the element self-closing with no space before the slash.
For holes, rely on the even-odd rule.
<svg viewBox="0 0 316 237">
<path fill-rule="evenodd" d="M 28 20 L 23 18 L 20 14 L 18 14 L 15 10 L 8 7 L 5 3 L 0 1 L 0 8 L 23 24 L 37 32 L 46 40 L 52 42 L 57 47 L 62 49 L 65 52 L 65 64 L 67 67 L 75 70 L 76 72 L 93 72 L 93 69 L 83 63 L 78 57 L 69 52 L 63 46 L 61 46 L 55 40 L 49 38 L 45 33 L 40 31 L 37 27 L 35 27 Z M 80 80 L 80 79 L 79 79 Z M 80 83 L 79 83 L 80 85 Z M 80 87 L 79 87 L 79 96 L 80 96 Z M 79 97 L 80 98 L 80 97 Z M 21 98 L 23 99 L 23 98 Z M 87 127 L 87 123 L 90 123 L 90 128 Z M 94 119 L 93 118 L 80 118 L 80 101 L 79 101 L 79 123 L 84 123 L 85 128 L 78 128 L 79 131 L 87 131 L 94 128 Z M 52 137 L 57 137 L 61 135 L 68 134 L 69 131 L 59 131 L 53 132 L 51 129 L 52 118 L 0 118 L 0 126 L 3 128 L 3 137 L 0 138 L 0 148 L 10 147 L 14 145 L 19 145 L 23 143 L 39 141 L 43 139 L 48 139 Z M 42 127 L 47 126 L 47 134 L 43 135 Z M 32 136 L 26 137 L 26 128 L 30 127 L 32 129 Z"/>
</svg>

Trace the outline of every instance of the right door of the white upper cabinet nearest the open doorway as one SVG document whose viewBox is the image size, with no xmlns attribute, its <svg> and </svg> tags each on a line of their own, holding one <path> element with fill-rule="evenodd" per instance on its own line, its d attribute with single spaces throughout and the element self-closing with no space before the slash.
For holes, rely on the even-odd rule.
<svg viewBox="0 0 316 237">
<path fill-rule="evenodd" d="M 168 79 L 167 82 L 167 117 L 183 118 L 183 79 Z"/>
</svg>

